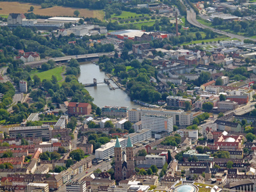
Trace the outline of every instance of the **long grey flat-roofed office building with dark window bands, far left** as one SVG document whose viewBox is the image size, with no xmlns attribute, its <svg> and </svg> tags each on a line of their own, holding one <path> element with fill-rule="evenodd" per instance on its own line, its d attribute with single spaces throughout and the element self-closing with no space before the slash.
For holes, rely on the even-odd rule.
<svg viewBox="0 0 256 192">
<path fill-rule="evenodd" d="M 29 126 L 29 127 L 10 127 L 10 138 L 42 138 L 49 140 L 52 137 L 52 127 L 50 125 Z"/>
</svg>

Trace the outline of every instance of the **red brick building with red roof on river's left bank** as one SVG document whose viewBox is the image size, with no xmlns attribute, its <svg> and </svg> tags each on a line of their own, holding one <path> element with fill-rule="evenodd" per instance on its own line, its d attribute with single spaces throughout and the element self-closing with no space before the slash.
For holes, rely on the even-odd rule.
<svg viewBox="0 0 256 192">
<path fill-rule="evenodd" d="M 89 115 L 92 112 L 92 106 L 85 102 L 69 102 L 68 115 Z"/>
</svg>

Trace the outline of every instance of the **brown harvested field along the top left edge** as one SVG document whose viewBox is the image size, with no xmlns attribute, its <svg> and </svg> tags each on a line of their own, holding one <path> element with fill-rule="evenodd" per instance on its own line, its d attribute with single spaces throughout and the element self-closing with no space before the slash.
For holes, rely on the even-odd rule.
<svg viewBox="0 0 256 192">
<path fill-rule="evenodd" d="M 74 16 L 74 11 L 80 12 L 79 17 L 97 17 L 104 19 L 104 12 L 102 10 L 88 10 L 81 8 L 68 8 L 63 6 L 54 6 L 51 8 L 42 9 L 40 4 L 20 3 L 20 2 L 0 2 L 1 15 L 9 15 L 9 13 L 28 13 L 30 6 L 33 6 L 34 13 L 38 15 L 49 16 Z"/>
</svg>

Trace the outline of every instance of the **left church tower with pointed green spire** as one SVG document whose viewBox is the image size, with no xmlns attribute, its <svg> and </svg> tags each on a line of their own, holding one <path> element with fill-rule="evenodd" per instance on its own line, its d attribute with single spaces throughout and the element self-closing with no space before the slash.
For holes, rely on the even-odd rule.
<svg viewBox="0 0 256 192">
<path fill-rule="evenodd" d="M 122 148 L 116 136 L 115 145 L 115 180 L 122 180 Z"/>
</svg>

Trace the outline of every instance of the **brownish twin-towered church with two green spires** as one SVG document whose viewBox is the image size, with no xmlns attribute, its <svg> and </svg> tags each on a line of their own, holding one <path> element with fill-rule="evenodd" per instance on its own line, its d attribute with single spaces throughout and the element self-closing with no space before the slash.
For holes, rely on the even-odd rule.
<svg viewBox="0 0 256 192">
<path fill-rule="evenodd" d="M 116 137 L 115 145 L 115 180 L 125 180 L 135 175 L 134 154 L 130 137 L 128 137 L 125 150 L 122 152 L 122 146 Z"/>
</svg>

